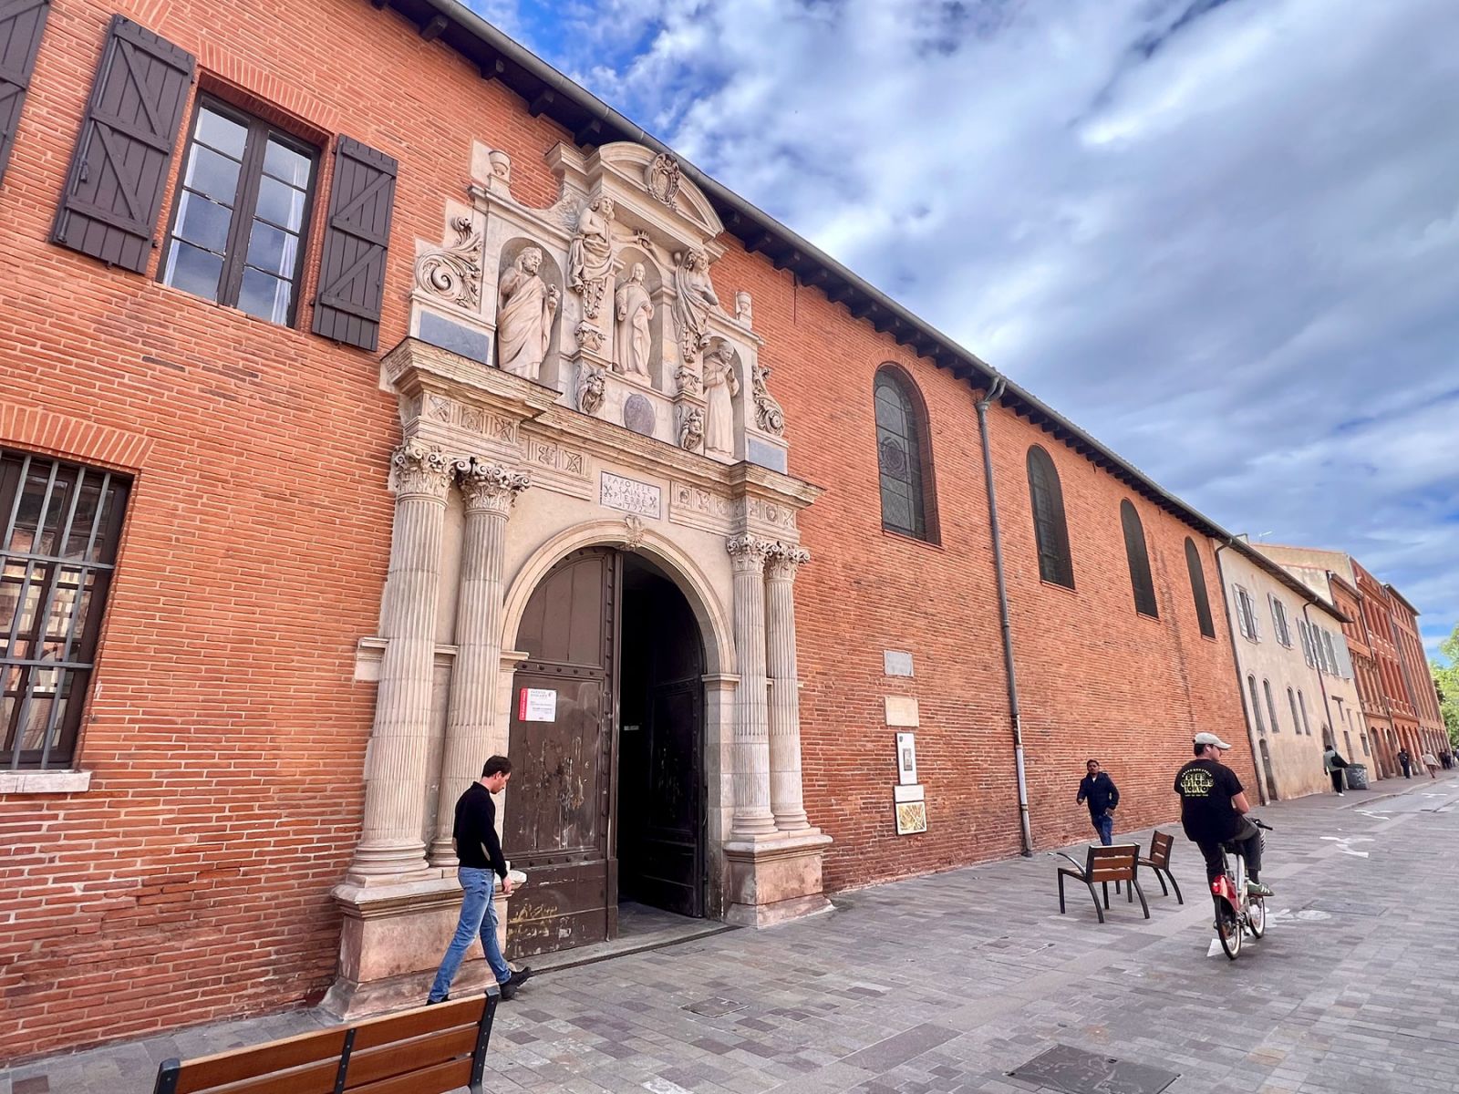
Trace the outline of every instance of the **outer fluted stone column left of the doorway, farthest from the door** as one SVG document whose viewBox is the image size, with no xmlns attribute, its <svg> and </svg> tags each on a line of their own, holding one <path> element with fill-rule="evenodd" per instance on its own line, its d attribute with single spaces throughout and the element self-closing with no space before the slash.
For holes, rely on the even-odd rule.
<svg viewBox="0 0 1459 1094">
<path fill-rule="evenodd" d="M 385 652 L 365 759 L 365 830 L 349 881 L 409 880 L 426 869 L 426 776 L 441 538 L 451 462 L 407 441 L 391 457 L 395 521 L 381 604 Z"/>
</svg>

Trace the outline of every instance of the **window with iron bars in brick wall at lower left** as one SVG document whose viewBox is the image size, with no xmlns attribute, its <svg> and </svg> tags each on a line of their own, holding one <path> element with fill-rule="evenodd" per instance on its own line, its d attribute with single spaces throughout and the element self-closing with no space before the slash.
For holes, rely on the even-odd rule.
<svg viewBox="0 0 1459 1094">
<path fill-rule="evenodd" d="M 0 766 L 70 766 L 130 481 L 0 449 Z"/>
</svg>

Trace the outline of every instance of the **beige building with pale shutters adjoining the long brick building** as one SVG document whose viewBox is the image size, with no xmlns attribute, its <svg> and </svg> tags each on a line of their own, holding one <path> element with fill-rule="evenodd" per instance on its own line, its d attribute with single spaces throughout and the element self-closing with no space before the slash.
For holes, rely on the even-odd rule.
<svg viewBox="0 0 1459 1094">
<path fill-rule="evenodd" d="M 1218 557 L 1261 796 L 1331 791 L 1322 767 L 1328 740 L 1352 763 L 1369 751 L 1344 617 L 1293 576 L 1236 551 Z"/>
</svg>

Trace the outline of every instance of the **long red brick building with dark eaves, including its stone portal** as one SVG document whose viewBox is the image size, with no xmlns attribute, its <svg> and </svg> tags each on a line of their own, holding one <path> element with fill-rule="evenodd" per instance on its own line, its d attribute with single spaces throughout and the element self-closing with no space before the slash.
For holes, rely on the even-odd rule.
<svg viewBox="0 0 1459 1094">
<path fill-rule="evenodd" d="M 219 10 L 0 9 L 6 1056 L 417 1001 L 493 751 L 518 957 L 1250 785 L 1263 556 L 465 9 Z"/>
</svg>

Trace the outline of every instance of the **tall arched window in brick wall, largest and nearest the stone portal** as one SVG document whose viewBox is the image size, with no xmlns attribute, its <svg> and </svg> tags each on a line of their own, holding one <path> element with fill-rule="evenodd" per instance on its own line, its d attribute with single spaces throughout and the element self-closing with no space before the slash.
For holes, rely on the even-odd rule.
<svg viewBox="0 0 1459 1094">
<path fill-rule="evenodd" d="M 877 471 L 881 476 L 881 527 L 937 543 L 932 455 L 926 411 L 912 381 L 883 365 L 874 388 Z"/>
</svg>

